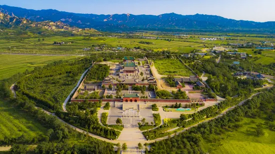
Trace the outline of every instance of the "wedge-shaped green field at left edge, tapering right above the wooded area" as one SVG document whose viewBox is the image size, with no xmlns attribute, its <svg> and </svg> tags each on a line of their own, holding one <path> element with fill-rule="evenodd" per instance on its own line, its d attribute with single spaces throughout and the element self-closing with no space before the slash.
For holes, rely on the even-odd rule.
<svg viewBox="0 0 275 154">
<path fill-rule="evenodd" d="M 0 55 L 0 81 L 25 70 L 33 70 L 53 61 L 71 60 L 75 56 Z"/>
</svg>

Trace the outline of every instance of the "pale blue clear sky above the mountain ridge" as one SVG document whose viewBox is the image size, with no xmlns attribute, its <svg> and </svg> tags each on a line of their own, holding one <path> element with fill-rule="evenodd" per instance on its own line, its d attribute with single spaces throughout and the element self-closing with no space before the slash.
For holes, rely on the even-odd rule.
<svg viewBox="0 0 275 154">
<path fill-rule="evenodd" d="M 27 9 L 93 14 L 177 13 L 219 15 L 236 20 L 275 21 L 275 0 L 0 0 Z"/>
</svg>

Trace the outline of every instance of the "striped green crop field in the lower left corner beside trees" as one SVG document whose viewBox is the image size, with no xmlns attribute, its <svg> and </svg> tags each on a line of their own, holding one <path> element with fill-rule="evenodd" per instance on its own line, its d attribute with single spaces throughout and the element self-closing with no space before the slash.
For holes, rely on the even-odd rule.
<svg viewBox="0 0 275 154">
<path fill-rule="evenodd" d="M 28 139 L 39 138 L 46 132 L 47 129 L 32 116 L 0 101 L 0 140 L 18 138 L 21 135 Z"/>
</svg>

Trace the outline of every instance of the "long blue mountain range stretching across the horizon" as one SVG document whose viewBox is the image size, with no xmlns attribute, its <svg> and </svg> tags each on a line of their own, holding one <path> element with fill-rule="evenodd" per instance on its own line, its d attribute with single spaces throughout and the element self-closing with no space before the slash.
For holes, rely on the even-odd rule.
<svg viewBox="0 0 275 154">
<path fill-rule="evenodd" d="M 0 5 L 0 12 L 18 16 L 30 21 L 61 21 L 79 28 L 97 30 L 138 30 L 138 29 L 216 29 L 216 30 L 275 30 L 275 22 L 255 22 L 228 19 L 217 15 L 181 15 L 166 13 L 161 15 L 134 14 L 82 14 L 54 9 L 33 10 Z"/>
</svg>

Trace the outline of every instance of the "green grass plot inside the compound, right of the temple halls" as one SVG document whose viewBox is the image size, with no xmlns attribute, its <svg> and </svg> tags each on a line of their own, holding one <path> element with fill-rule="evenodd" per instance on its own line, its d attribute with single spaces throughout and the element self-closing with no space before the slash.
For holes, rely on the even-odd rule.
<svg viewBox="0 0 275 154">
<path fill-rule="evenodd" d="M 192 72 L 186 68 L 178 59 L 155 60 L 155 67 L 160 75 L 189 77 Z"/>
</svg>

